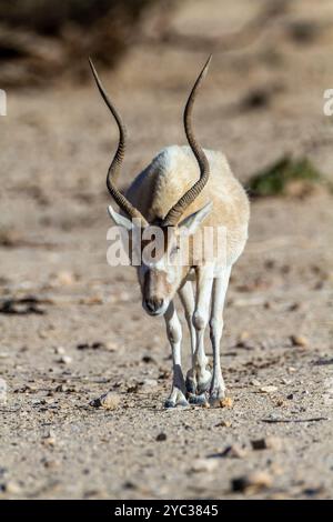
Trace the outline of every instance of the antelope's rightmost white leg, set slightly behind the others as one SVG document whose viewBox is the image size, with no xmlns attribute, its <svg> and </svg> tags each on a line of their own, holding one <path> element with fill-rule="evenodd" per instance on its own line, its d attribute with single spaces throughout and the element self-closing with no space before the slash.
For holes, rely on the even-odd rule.
<svg viewBox="0 0 333 522">
<path fill-rule="evenodd" d="M 221 371 L 220 342 L 223 331 L 223 307 L 231 267 L 228 267 L 215 278 L 212 291 L 212 311 L 210 319 L 210 335 L 213 348 L 213 378 L 210 389 L 211 405 L 218 405 L 219 401 L 224 398 L 225 393 L 225 385 Z"/>
</svg>

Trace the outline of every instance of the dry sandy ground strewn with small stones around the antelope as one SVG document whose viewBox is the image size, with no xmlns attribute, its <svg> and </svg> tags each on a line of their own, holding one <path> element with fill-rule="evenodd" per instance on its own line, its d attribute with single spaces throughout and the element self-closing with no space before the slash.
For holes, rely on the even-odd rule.
<svg viewBox="0 0 333 522">
<path fill-rule="evenodd" d="M 238 31 L 259 3 L 183 2 L 172 23 Z M 215 52 L 195 108 L 202 143 L 243 182 L 285 151 L 333 180 L 333 117 L 322 109 L 332 3 L 290 3 L 253 42 Z M 305 22 L 313 31 L 297 32 Z M 143 42 L 103 74 L 130 130 L 123 187 L 162 147 L 184 143 L 182 107 L 205 57 Z M 264 101 L 244 103 L 258 90 Z M 105 261 L 117 134 L 93 83 L 9 92 L 0 126 L 0 496 L 332 498 L 332 195 L 252 203 L 224 318 L 231 400 L 164 410 L 163 321 L 141 309 L 134 270 Z M 183 352 L 188 369 L 188 335 Z M 114 409 L 90 405 L 109 390 Z M 253 449 L 261 439 L 268 448 Z"/>
</svg>

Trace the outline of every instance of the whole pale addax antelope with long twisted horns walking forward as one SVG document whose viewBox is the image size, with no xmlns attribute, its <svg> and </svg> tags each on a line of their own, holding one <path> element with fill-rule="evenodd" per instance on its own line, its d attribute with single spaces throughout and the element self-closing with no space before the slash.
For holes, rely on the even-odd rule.
<svg viewBox="0 0 333 522">
<path fill-rule="evenodd" d="M 250 207 L 246 193 L 232 174 L 224 154 L 202 149 L 192 128 L 193 103 L 209 63 L 210 59 L 184 109 L 184 130 L 190 147 L 163 149 L 122 194 L 115 181 L 124 157 L 127 132 L 90 61 L 98 89 L 119 129 L 119 144 L 108 171 L 107 185 L 120 212 L 110 205 L 110 217 L 132 241 L 140 243 L 137 247 L 141 251 L 147 245 L 143 234 L 148 238 L 150 229 L 158 227 L 164 238 L 162 254 L 153 261 L 142 260 L 137 270 L 142 305 L 150 315 L 164 317 L 172 349 L 173 382 L 167 408 L 200 404 L 206 400 L 216 405 L 224 396 L 220 362 L 223 305 L 231 268 L 248 239 Z M 204 249 L 203 255 L 198 255 L 204 228 L 225 231 L 224 255 L 206 259 Z M 189 238 L 186 263 L 183 262 L 183 237 Z M 174 305 L 176 293 L 191 338 L 192 363 L 185 379 L 181 364 L 182 328 Z M 213 351 L 212 372 L 204 350 L 208 324 Z"/>
</svg>

